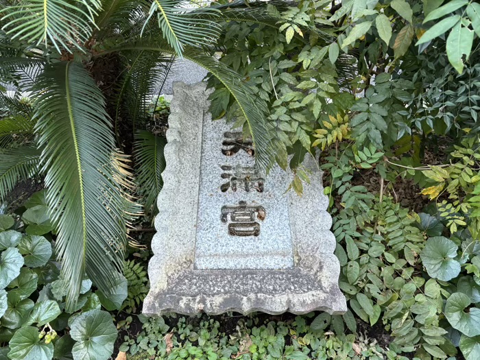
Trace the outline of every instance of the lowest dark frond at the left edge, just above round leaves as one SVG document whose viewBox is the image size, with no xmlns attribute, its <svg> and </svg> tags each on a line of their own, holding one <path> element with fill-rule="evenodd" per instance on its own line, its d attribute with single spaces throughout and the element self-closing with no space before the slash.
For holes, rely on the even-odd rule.
<svg viewBox="0 0 480 360">
<path fill-rule="evenodd" d="M 40 153 L 32 146 L 0 149 L 0 200 L 5 199 L 17 182 L 38 174 Z"/>
</svg>

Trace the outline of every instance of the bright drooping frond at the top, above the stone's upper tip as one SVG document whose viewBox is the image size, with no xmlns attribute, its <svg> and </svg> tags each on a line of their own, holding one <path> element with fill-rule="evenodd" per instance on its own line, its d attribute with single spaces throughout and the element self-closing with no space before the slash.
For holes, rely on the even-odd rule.
<svg viewBox="0 0 480 360">
<path fill-rule="evenodd" d="M 154 0 L 150 7 L 149 19 L 157 15 L 158 26 L 163 38 L 182 58 L 184 47 L 213 45 L 220 34 L 220 25 L 212 17 L 219 14 L 213 8 L 188 9 L 189 1 Z M 208 19 L 202 19 L 200 14 L 208 14 Z"/>
</svg>

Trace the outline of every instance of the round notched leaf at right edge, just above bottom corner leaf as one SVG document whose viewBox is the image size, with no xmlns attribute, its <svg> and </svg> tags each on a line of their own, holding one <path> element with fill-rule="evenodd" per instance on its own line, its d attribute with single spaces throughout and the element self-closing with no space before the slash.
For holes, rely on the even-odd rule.
<svg viewBox="0 0 480 360">
<path fill-rule="evenodd" d="M 480 309 L 472 307 L 466 313 L 467 307 L 470 307 L 470 298 L 464 293 L 453 293 L 446 300 L 445 317 L 453 328 L 468 337 L 480 335 Z"/>
</svg>

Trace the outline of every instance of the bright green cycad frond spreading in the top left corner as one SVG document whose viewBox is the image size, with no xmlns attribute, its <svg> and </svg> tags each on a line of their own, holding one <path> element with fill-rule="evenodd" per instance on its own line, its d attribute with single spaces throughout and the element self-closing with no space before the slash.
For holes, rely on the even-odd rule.
<svg viewBox="0 0 480 360">
<path fill-rule="evenodd" d="M 12 39 L 46 47 L 50 42 L 60 53 L 60 46 L 69 51 L 71 45 L 80 48 L 86 42 L 100 6 L 98 0 L 27 0 L 0 12 L 6 22 L 3 29 Z"/>
</svg>

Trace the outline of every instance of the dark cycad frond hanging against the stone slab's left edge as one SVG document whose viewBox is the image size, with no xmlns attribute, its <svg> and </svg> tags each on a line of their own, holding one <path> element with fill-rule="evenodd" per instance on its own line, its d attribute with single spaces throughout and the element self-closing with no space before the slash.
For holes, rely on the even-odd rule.
<svg viewBox="0 0 480 360">
<path fill-rule="evenodd" d="M 158 212 L 156 199 L 163 187 L 162 173 L 165 170 L 163 148 L 164 137 L 140 130 L 136 132 L 134 156 L 136 159 L 136 182 L 145 202 L 145 214 L 154 216 Z"/>
</svg>

